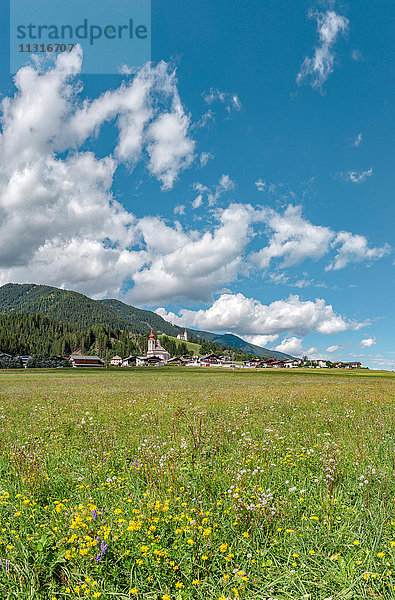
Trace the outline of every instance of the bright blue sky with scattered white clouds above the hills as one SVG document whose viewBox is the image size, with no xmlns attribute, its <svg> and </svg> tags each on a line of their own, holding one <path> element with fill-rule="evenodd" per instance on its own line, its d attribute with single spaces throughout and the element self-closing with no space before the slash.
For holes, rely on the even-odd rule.
<svg viewBox="0 0 395 600">
<path fill-rule="evenodd" d="M 153 1 L 146 95 L 122 101 L 138 75 L 81 57 L 16 92 L 1 15 L 0 283 L 393 368 L 391 3 L 191 4 Z"/>
</svg>

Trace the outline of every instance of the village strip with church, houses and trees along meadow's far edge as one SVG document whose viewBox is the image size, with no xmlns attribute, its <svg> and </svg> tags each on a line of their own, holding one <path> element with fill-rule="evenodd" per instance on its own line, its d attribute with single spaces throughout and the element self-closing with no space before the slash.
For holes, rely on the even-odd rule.
<svg viewBox="0 0 395 600">
<path fill-rule="evenodd" d="M 178 334 L 178 340 L 187 342 L 188 334 Z M 104 368 L 104 367 L 223 367 L 231 369 L 360 369 L 359 361 L 354 362 L 331 362 L 324 359 L 303 358 L 262 358 L 253 357 L 244 361 L 235 361 L 229 355 L 210 352 L 203 356 L 192 354 L 191 356 L 170 356 L 163 348 L 160 340 L 155 337 L 153 330 L 148 338 L 148 349 L 145 355 L 130 355 L 122 357 L 115 355 L 108 359 L 99 356 L 86 356 L 82 354 L 71 354 L 69 357 L 50 357 L 38 360 L 30 355 L 12 356 L 0 352 L 0 368 L 35 368 L 35 367 L 66 367 L 73 368 Z"/>
</svg>

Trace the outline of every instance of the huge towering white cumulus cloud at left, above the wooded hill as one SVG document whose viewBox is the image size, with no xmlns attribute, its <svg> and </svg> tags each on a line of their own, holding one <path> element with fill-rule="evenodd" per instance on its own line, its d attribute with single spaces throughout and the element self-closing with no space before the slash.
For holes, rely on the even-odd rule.
<svg viewBox="0 0 395 600">
<path fill-rule="evenodd" d="M 189 117 L 165 63 L 80 101 L 81 63 L 76 49 L 52 68 L 26 66 L 14 78 L 14 96 L 2 100 L 0 283 L 118 294 L 146 264 L 147 250 L 139 247 L 141 223 L 113 197 L 116 169 L 121 162 L 133 168 L 145 148 L 148 170 L 168 189 L 192 160 Z M 112 155 L 82 150 L 108 121 L 119 132 Z"/>
</svg>

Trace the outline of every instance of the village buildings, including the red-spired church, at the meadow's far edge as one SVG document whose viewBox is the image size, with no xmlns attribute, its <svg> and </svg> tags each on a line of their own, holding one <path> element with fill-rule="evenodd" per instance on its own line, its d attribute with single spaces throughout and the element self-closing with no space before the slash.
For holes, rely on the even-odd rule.
<svg viewBox="0 0 395 600">
<path fill-rule="evenodd" d="M 188 341 L 187 330 L 179 334 L 177 339 Z M 20 360 L 23 367 L 27 366 L 30 356 L 12 357 L 9 354 L 0 353 L 1 360 L 12 360 L 16 358 Z M 62 359 L 62 357 L 56 357 Z M 63 360 L 63 359 L 62 359 Z M 72 354 L 69 359 L 69 364 L 72 367 L 104 367 L 105 361 L 99 356 L 82 356 L 80 354 Z M 169 352 L 162 347 L 160 341 L 155 338 L 151 329 L 151 335 L 148 339 L 147 353 L 143 356 L 131 355 L 126 358 L 121 356 L 113 356 L 110 359 L 110 365 L 113 367 L 142 367 L 142 366 L 186 366 L 186 367 L 230 367 L 230 368 L 275 368 L 275 369 L 295 369 L 298 367 L 306 367 L 310 369 L 327 369 L 327 368 L 343 368 L 343 369 L 359 369 L 360 362 L 330 362 L 327 360 L 307 360 L 305 358 L 258 358 L 254 357 L 245 360 L 243 364 L 235 363 L 229 356 L 220 356 L 214 352 L 204 356 L 177 356 L 171 357 Z"/>
</svg>

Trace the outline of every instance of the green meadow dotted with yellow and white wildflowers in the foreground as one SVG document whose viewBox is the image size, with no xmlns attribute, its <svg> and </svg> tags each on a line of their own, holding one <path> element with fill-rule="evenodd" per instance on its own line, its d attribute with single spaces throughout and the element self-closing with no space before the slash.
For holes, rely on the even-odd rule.
<svg viewBox="0 0 395 600">
<path fill-rule="evenodd" d="M 395 378 L 0 372 L 0 598 L 395 598 Z"/>
</svg>

